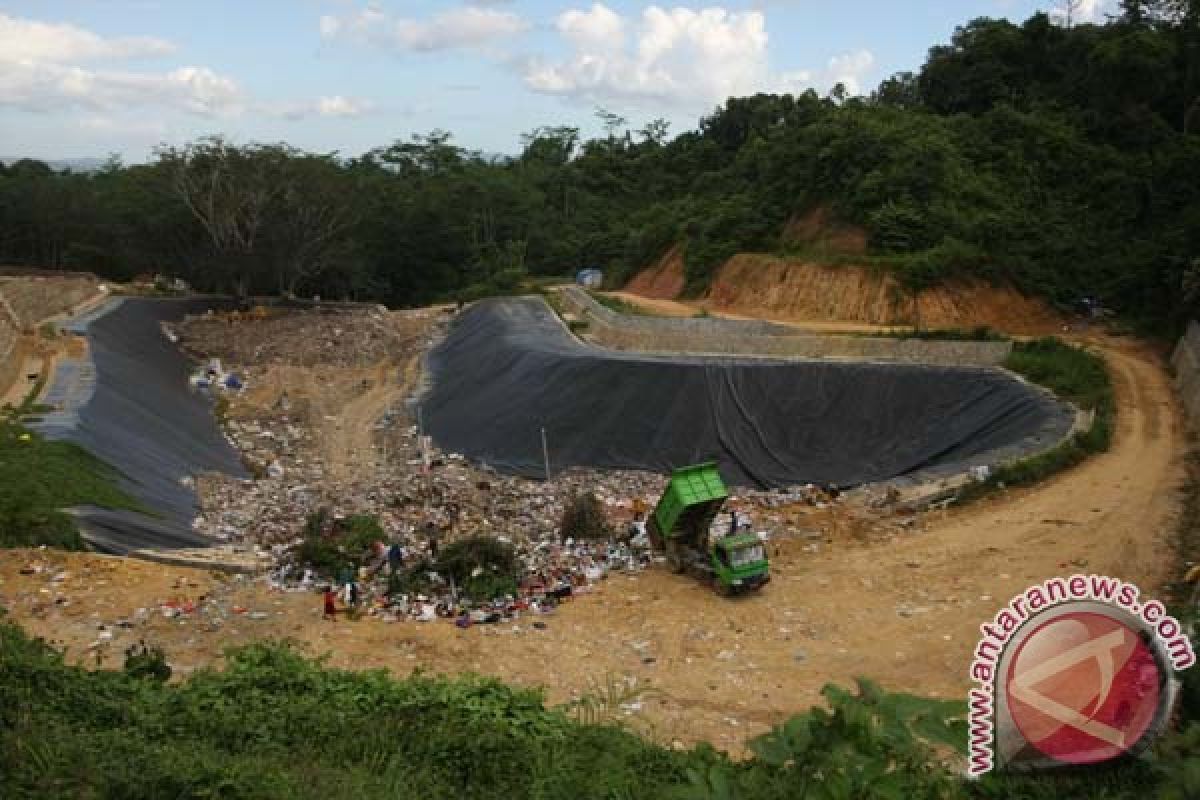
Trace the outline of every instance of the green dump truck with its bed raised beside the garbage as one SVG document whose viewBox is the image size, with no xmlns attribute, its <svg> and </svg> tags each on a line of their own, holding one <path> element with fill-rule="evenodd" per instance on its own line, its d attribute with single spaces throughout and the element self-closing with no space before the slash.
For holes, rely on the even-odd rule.
<svg viewBox="0 0 1200 800">
<path fill-rule="evenodd" d="M 721 594 L 736 594 L 770 581 L 770 567 L 767 548 L 756 535 L 710 535 L 727 497 L 715 463 L 683 467 L 672 473 L 646 529 L 654 547 L 666 553 L 672 571 L 709 581 Z"/>
</svg>

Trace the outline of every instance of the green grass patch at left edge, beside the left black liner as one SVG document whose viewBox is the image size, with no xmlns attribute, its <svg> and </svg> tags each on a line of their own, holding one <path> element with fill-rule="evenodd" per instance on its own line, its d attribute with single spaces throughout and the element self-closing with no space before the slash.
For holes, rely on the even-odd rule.
<svg viewBox="0 0 1200 800">
<path fill-rule="evenodd" d="M 118 474 L 83 447 L 0 421 L 0 547 L 83 549 L 71 506 L 145 511 Z"/>
</svg>

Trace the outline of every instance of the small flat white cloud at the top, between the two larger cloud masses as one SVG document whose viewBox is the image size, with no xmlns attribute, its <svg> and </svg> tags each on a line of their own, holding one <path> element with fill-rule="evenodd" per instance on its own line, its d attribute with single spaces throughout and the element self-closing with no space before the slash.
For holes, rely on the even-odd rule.
<svg viewBox="0 0 1200 800">
<path fill-rule="evenodd" d="M 529 25 L 517 14 L 496 8 L 463 6 L 428 19 L 392 17 L 367 6 L 343 17 L 320 18 L 324 38 L 348 38 L 394 50 L 480 49 L 526 31 Z"/>
</svg>

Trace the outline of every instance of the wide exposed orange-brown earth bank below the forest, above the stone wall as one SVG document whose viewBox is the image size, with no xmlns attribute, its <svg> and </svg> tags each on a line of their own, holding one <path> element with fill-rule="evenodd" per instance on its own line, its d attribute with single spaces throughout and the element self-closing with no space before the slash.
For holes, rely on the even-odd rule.
<svg viewBox="0 0 1200 800">
<path fill-rule="evenodd" d="M 1044 302 L 1007 287 L 947 284 L 922 291 L 914 303 L 892 276 L 878 270 L 757 254 L 726 261 L 706 305 L 779 319 L 922 327 L 988 325 L 1013 333 L 1055 332 L 1063 325 Z"/>
</svg>

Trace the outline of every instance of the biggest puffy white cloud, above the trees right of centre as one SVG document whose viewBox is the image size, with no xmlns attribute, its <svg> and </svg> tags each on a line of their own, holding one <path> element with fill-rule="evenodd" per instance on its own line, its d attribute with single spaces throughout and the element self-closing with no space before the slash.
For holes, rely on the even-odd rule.
<svg viewBox="0 0 1200 800">
<path fill-rule="evenodd" d="M 626 19 L 602 4 L 559 14 L 571 55 L 532 59 L 526 84 L 535 91 L 588 102 L 650 101 L 703 109 L 731 96 L 797 91 L 844 83 L 851 94 L 874 67 L 868 50 L 839 55 L 820 72 L 772 73 L 766 17 L 760 11 L 649 6 Z"/>
</svg>

